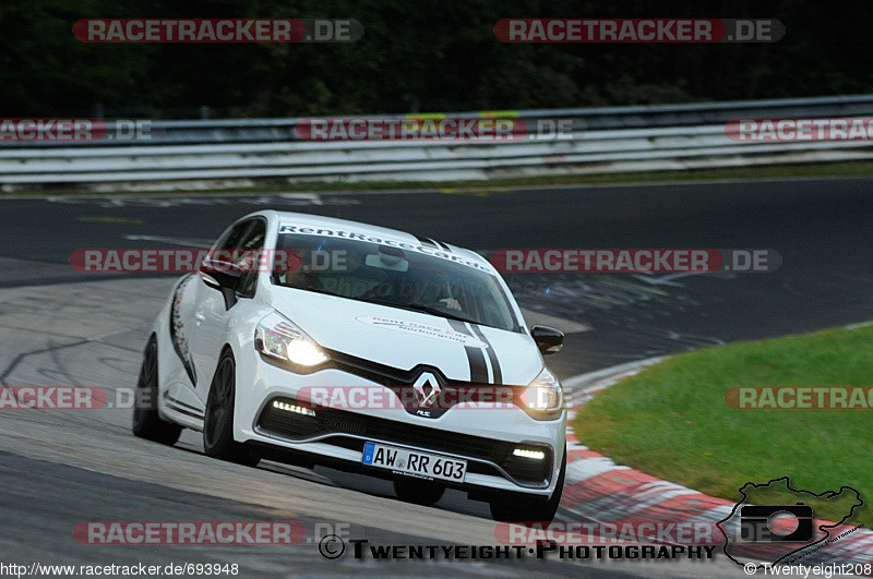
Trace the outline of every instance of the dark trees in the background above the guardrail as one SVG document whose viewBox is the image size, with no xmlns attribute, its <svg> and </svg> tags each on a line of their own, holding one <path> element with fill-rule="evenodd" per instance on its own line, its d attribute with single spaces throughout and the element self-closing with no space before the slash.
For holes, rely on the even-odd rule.
<svg viewBox="0 0 873 579">
<path fill-rule="evenodd" d="M 298 117 L 871 93 L 871 13 L 856 0 L 4 0 L 0 114 Z M 83 44 L 71 28 L 85 17 L 356 19 L 366 33 L 351 44 Z M 787 33 L 774 44 L 503 44 L 493 26 L 504 17 L 775 17 Z"/>
</svg>

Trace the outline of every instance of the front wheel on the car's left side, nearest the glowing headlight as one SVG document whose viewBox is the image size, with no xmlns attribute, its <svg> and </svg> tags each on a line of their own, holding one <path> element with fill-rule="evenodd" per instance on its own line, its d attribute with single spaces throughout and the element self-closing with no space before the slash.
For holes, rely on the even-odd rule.
<svg viewBox="0 0 873 579">
<path fill-rule="evenodd" d="M 234 406 L 237 391 L 237 364 L 234 354 L 227 350 L 218 360 L 218 367 L 212 378 L 210 395 L 206 398 L 206 413 L 203 419 L 203 450 L 206 456 L 255 467 L 261 457 L 244 444 L 234 439 Z"/>
</svg>

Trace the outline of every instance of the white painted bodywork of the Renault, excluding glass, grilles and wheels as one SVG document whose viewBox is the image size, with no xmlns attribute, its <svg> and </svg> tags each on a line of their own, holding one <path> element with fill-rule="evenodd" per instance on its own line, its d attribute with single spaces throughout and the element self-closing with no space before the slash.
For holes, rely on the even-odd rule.
<svg viewBox="0 0 873 579">
<path fill-rule="evenodd" d="M 311 215 L 266 210 L 243 219 L 254 216 L 267 221 L 266 248 L 275 246 L 280 226 L 289 224 L 298 229 L 342 228 L 345 231 L 391 239 L 398 243 L 420 243 L 416 237 L 399 231 Z M 439 369 L 449 381 L 469 382 L 471 363 L 468 350 L 473 349 L 478 350 L 486 361 L 489 383 L 494 381 L 497 364 L 500 383 L 515 386 L 529 384 L 543 369 L 542 358 L 509 288 L 491 265 L 478 254 L 451 245 L 447 248 L 452 255 L 475 260 L 478 263 L 477 267 L 493 273 L 507 297 L 522 331 L 507 331 L 481 325 L 474 328 L 474 325 L 463 323 L 462 326 L 466 326 L 466 330 L 458 331 L 457 323 L 452 324 L 440 316 L 274 286 L 267 274 L 259 275 L 253 297 L 239 298 L 237 303 L 227 310 L 218 290 L 206 286 L 198 274 L 187 275 L 177 284 L 153 328 L 158 341 L 159 414 L 165 420 L 201 431 L 213 374 L 223 350 L 229 347 L 237 364 L 234 419 L 234 437 L 237 442 L 256 442 L 309 453 L 315 457 L 348 461 L 349 465 L 360 465 L 362 455 L 360 450 L 328 444 L 318 436 L 306 442 L 292 441 L 275 433 L 264 432 L 256 426 L 262 409 L 277 396 L 296 398 L 301 389 L 306 391 L 306 388 L 311 386 L 384 388 L 375 382 L 339 369 L 328 367 L 309 374 L 297 374 L 265 363 L 262 354 L 255 350 L 254 330 L 259 322 L 274 311 L 292 321 L 319 346 L 327 350 L 403 371 L 410 371 L 418 365 L 432 366 Z M 175 297 L 179 299 L 175 300 Z M 176 324 L 171 323 L 174 313 Z M 372 322 L 374 317 L 387 319 L 388 323 L 374 324 Z M 405 324 L 419 324 L 444 330 L 451 339 L 418 335 L 403 327 L 399 329 L 396 327 Z M 462 338 L 453 333 L 468 333 L 469 336 Z M 187 345 L 187 349 L 177 348 L 179 343 Z M 182 350 L 182 355 L 177 350 Z M 188 363 L 184 362 L 186 358 L 189 360 Z M 195 379 L 192 379 L 191 369 Z M 391 390 L 387 388 L 385 390 L 386 395 L 393 396 Z M 521 485 L 507 477 L 481 472 L 468 472 L 465 485 L 480 490 L 493 488 L 549 496 L 555 487 L 564 451 L 566 411 L 553 420 L 535 420 L 517 407 L 489 409 L 480 405 L 479 408 L 473 409 L 467 408 L 468 406 L 458 405 L 433 419 L 415 415 L 403 408 L 349 411 L 405 425 L 442 431 L 446 437 L 470 435 L 489 438 L 495 443 L 546 445 L 553 451 L 548 486 Z M 374 438 L 367 437 L 367 439 Z M 402 441 L 396 439 L 375 441 L 402 444 Z M 420 446 L 417 448 L 446 454 L 440 449 Z"/>
</svg>

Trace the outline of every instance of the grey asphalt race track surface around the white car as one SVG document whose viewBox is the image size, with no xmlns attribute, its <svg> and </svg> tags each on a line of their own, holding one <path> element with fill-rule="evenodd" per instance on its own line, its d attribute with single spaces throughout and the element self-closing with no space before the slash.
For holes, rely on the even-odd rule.
<svg viewBox="0 0 873 579">
<path fill-rule="evenodd" d="M 611 185 L 417 193 L 0 200 L 0 385 L 99 386 L 110 402 L 135 383 L 146 327 L 171 277 L 79 274 L 76 249 L 208 244 L 265 207 L 373 222 L 488 252 L 502 248 L 773 249 L 770 274 L 540 276 L 523 307 L 575 323 L 552 366 L 562 377 L 739 339 L 873 318 L 873 179 Z M 519 274 L 533 276 L 534 274 Z M 130 434 L 130 409 L 0 412 L 0 555 L 29 565 L 230 563 L 244 576 L 736 576 L 718 563 L 336 560 L 321 524 L 348 523 L 371 544 L 494 544 L 482 503 L 449 493 L 435 508 L 402 503 L 363 477 L 172 449 Z M 563 515 L 566 516 L 565 514 Z M 290 520 L 297 546 L 81 545 L 89 520 Z M 22 559 L 22 560 L 19 560 Z M 732 564 L 731 564 L 732 565 Z"/>
</svg>

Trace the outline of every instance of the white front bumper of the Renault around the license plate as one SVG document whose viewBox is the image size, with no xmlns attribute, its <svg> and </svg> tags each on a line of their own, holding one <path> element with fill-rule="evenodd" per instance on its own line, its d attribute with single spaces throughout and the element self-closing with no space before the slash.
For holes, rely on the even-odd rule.
<svg viewBox="0 0 873 579">
<path fill-rule="evenodd" d="M 296 374 L 255 357 L 250 375 L 239 376 L 235 412 L 235 437 L 280 455 L 304 456 L 315 463 L 396 478 L 393 473 L 362 465 L 366 442 L 407 447 L 423 453 L 466 460 L 463 483 L 440 481 L 447 486 L 476 492 L 521 492 L 550 496 L 563 458 L 566 411 L 555 420 L 539 421 L 517 407 L 461 403 L 439 418 L 423 418 L 396 405 L 384 403 L 396 396 L 388 388 L 338 369 Z M 240 369 L 240 365 L 238 365 Z M 381 396 L 380 403 L 314 406 L 315 417 L 277 411 L 276 400 L 307 406 L 313 388 L 361 388 Z M 384 390 L 384 391 L 382 391 Z M 546 458 L 512 455 L 514 448 L 538 449 Z M 537 460 L 547 463 L 537 465 Z"/>
</svg>

